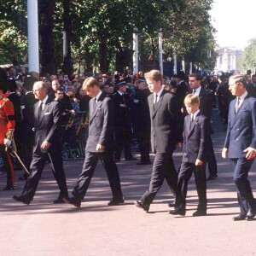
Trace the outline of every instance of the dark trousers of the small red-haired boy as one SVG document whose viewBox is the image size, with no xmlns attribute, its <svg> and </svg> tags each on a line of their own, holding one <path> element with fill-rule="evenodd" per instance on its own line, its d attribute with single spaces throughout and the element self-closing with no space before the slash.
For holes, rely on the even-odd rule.
<svg viewBox="0 0 256 256">
<path fill-rule="evenodd" d="M 181 195 L 181 204 L 179 207 L 184 209 L 186 208 L 188 183 L 193 172 L 195 175 L 195 186 L 199 199 L 197 210 L 207 211 L 207 179 L 205 163 L 201 166 L 195 166 L 193 163 L 182 162 L 177 178 L 177 189 Z"/>
</svg>

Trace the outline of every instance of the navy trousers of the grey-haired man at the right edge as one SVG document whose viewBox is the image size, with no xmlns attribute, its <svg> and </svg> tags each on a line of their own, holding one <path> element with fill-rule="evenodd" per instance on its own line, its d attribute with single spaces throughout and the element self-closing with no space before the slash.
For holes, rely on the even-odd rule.
<svg viewBox="0 0 256 256">
<path fill-rule="evenodd" d="M 255 209 L 253 191 L 248 181 L 248 172 L 253 165 L 253 160 L 247 160 L 246 158 L 231 159 L 241 215 L 246 215 L 248 209 Z"/>
</svg>

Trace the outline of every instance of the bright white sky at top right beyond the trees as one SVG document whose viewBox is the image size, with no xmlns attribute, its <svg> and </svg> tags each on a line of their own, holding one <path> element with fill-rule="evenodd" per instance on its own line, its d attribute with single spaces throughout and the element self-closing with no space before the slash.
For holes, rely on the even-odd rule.
<svg viewBox="0 0 256 256">
<path fill-rule="evenodd" d="M 214 0 L 211 15 L 220 47 L 244 49 L 256 38 L 256 0 Z"/>
</svg>

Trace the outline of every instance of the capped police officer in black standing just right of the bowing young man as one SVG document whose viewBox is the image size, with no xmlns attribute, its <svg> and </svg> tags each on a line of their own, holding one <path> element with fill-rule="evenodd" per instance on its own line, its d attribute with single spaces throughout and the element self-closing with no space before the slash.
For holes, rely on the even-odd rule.
<svg viewBox="0 0 256 256">
<path fill-rule="evenodd" d="M 114 160 L 120 161 L 122 149 L 125 151 L 125 160 L 136 160 L 131 155 L 131 101 L 125 93 L 125 81 L 117 84 L 117 92 L 113 95 L 115 109 L 115 150 Z"/>
</svg>

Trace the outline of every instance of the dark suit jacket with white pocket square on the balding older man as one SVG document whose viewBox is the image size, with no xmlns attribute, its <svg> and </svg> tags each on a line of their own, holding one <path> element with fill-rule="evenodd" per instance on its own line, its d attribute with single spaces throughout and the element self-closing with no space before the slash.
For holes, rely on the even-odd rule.
<svg viewBox="0 0 256 256">
<path fill-rule="evenodd" d="M 61 150 L 61 108 L 60 103 L 48 98 L 44 109 L 38 119 L 38 106 L 40 102 L 34 105 L 34 127 L 35 140 L 33 152 L 47 153 L 41 145 L 44 141 L 50 143 L 49 150 Z"/>
</svg>

